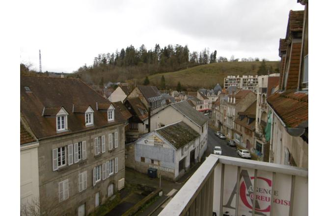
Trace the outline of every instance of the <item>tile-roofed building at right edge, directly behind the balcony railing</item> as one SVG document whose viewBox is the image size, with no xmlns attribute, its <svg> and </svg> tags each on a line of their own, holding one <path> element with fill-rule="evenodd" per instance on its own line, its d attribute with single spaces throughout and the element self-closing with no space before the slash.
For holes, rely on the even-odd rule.
<svg viewBox="0 0 328 216">
<path fill-rule="evenodd" d="M 290 11 L 280 40 L 279 91 L 267 98 L 270 162 L 308 168 L 308 1 Z"/>
</svg>

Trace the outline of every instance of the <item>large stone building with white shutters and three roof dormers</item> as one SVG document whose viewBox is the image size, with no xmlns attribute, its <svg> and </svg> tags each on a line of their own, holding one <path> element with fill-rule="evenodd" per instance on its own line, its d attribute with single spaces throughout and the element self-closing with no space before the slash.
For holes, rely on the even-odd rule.
<svg viewBox="0 0 328 216">
<path fill-rule="evenodd" d="M 126 119 L 78 79 L 21 76 L 20 90 L 21 123 L 39 142 L 41 215 L 90 214 L 124 187 Z"/>
</svg>

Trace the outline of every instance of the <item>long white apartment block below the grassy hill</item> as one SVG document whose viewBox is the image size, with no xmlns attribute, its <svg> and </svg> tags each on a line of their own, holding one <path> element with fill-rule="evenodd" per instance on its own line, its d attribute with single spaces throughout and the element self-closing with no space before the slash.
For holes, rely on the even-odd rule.
<svg viewBox="0 0 328 216">
<path fill-rule="evenodd" d="M 224 88 L 228 88 L 229 86 L 237 86 L 237 88 L 251 90 L 256 93 L 258 89 L 258 78 L 257 75 L 243 75 L 241 77 L 239 75 L 228 76 L 224 78 Z"/>
</svg>

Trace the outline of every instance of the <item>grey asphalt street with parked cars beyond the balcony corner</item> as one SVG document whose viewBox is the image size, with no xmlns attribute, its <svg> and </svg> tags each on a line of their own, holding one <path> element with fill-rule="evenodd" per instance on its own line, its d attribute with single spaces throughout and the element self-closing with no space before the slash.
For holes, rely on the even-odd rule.
<svg viewBox="0 0 328 216">
<path fill-rule="evenodd" d="M 215 131 L 208 127 L 206 155 L 213 154 L 215 146 L 221 146 L 223 156 L 239 158 L 236 147 L 228 146 L 227 141 L 228 139 L 220 139 L 215 135 Z"/>
</svg>

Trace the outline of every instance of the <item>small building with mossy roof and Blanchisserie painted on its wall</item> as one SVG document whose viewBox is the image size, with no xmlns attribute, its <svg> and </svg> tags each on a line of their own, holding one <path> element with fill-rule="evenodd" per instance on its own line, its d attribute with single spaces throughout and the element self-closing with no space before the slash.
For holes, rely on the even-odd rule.
<svg viewBox="0 0 328 216">
<path fill-rule="evenodd" d="M 156 129 L 136 141 L 134 168 L 143 173 L 149 167 L 157 168 L 158 175 L 175 181 L 197 162 L 199 137 L 183 121 Z"/>
</svg>

